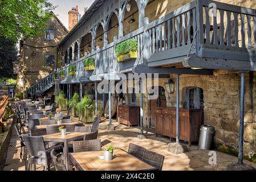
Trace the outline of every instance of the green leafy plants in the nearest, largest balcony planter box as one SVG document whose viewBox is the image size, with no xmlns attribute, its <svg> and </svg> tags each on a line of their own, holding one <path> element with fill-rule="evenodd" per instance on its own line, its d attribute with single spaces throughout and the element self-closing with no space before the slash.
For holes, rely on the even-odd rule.
<svg viewBox="0 0 256 182">
<path fill-rule="evenodd" d="M 117 44 L 115 51 L 116 56 L 126 55 L 130 51 L 137 51 L 138 50 L 138 43 L 136 39 L 128 39 L 124 42 Z"/>
</svg>

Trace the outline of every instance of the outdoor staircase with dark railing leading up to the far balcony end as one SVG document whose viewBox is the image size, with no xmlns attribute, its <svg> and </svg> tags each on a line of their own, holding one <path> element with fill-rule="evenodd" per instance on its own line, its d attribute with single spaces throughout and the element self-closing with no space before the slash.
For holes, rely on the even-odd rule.
<svg viewBox="0 0 256 182">
<path fill-rule="evenodd" d="M 33 96 L 34 94 L 38 96 L 39 94 L 42 94 L 50 89 L 54 85 L 53 75 L 54 72 L 32 85 L 29 89 L 27 89 L 26 96 L 28 97 L 29 94 L 30 96 Z"/>
</svg>

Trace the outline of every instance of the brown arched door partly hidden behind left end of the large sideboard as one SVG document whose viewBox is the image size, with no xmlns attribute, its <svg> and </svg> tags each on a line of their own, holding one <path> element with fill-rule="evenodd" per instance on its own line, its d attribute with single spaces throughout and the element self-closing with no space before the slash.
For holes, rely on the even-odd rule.
<svg viewBox="0 0 256 182">
<path fill-rule="evenodd" d="M 165 90 L 162 86 L 159 86 L 159 97 L 156 100 L 150 100 L 150 122 L 149 127 L 155 129 L 156 127 L 156 107 L 166 107 Z"/>
</svg>

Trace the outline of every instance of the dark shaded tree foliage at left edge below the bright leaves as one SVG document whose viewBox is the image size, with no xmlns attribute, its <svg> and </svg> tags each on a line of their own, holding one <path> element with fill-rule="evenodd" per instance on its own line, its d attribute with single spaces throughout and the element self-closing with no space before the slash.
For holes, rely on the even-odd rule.
<svg viewBox="0 0 256 182">
<path fill-rule="evenodd" d="M 13 76 L 13 62 L 18 60 L 17 53 L 14 41 L 0 36 L 0 78 Z"/>
</svg>

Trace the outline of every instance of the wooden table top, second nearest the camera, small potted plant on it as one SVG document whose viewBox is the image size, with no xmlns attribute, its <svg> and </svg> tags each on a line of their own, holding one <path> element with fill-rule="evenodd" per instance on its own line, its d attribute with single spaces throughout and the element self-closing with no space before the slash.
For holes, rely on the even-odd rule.
<svg viewBox="0 0 256 182">
<path fill-rule="evenodd" d="M 62 134 L 59 132 L 55 134 L 42 135 L 42 137 L 46 142 L 67 142 L 83 138 L 85 134 L 88 133 L 67 132 L 67 135 L 62 136 Z"/>
</svg>

